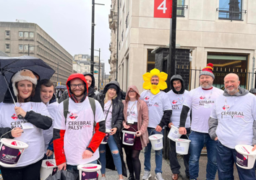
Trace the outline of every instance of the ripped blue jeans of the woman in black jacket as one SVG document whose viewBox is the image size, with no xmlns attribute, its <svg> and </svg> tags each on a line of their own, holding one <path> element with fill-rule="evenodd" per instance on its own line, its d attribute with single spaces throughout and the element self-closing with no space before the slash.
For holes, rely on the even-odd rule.
<svg viewBox="0 0 256 180">
<path fill-rule="evenodd" d="M 110 135 L 108 138 L 108 147 L 111 150 L 111 154 L 114 160 L 114 164 L 116 166 L 117 173 L 120 175 L 122 174 L 121 169 L 121 157 L 119 154 L 119 149 L 117 148 L 116 141 L 114 140 L 113 135 Z M 118 153 L 113 153 L 114 151 L 117 151 Z M 101 174 L 106 173 L 106 144 L 100 145 L 100 158 L 101 161 Z"/>
</svg>

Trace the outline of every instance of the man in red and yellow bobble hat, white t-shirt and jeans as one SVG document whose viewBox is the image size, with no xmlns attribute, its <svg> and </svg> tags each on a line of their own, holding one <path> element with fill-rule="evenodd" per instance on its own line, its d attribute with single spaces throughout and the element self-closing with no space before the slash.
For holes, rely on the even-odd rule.
<svg viewBox="0 0 256 180">
<path fill-rule="evenodd" d="M 180 116 L 179 133 L 187 134 L 185 124 L 187 121 L 187 114 L 192 110 L 192 132 L 189 135 L 189 179 L 197 179 L 199 172 L 199 159 L 201 150 L 206 145 L 208 163 L 206 168 L 206 179 L 215 179 L 217 171 L 216 162 L 216 143 L 210 139 L 208 134 L 208 120 L 210 111 L 218 96 L 223 94 L 221 89 L 213 87 L 213 64 L 208 63 L 207 67 L 203 68 L 200 76 L 200 87 L 189 91 L 182 107 Z"/>
</svg>

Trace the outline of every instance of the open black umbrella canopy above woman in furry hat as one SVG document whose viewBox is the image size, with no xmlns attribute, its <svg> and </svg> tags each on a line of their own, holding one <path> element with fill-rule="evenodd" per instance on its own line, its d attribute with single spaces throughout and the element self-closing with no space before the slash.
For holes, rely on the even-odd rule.
<svg viewBox="0 0 256 180">
<path fill-rule="evenodd" d="M 39 76 L 38 84 L 35 88 L 35 96 L 31 98 L 31 102 L 41 102 L 39 82 L 41 79 L 50 79 L 55 71 L 43 62 L 43 60 L 27 55 L 21 57 L 0 57 L 0 102 L 14 103 L 12 99 L 12 96 L 14 96 L 12 89 L 12 76 L 14 73 L 17 73 L 17 71 L 22 69 L 33 71 L 35 76 Z M 17 101 L 17 99 L 14 98 L 14 101 Z"/>
</svg>

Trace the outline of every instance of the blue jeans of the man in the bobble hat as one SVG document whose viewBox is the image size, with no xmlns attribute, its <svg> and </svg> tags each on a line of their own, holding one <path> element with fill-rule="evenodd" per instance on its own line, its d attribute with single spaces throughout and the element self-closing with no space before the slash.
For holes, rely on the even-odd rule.
<svg viewBox="0 0 256 180">
<path fill-rule="evenodd" d="M 204 145 L 207 148 L 208 163 L 206 167 L 206 179 L 215 179 L 217 172 L 216 143 L 210 139 L 208 133 L 192 131 L 189 135 L 189 178 L 197 179 L 199 172 L 199 158 Z"/>
</svg>

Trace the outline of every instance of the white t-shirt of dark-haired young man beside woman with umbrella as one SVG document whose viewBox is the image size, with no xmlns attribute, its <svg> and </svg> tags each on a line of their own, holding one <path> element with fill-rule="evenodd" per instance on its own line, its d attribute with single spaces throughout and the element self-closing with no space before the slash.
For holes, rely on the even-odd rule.
<svg viewBox="0 0 256 180">
<path fill-rule="evenodd" d="M 58 108 L 59 103 L 58 102 L 53 102 L 51 104 L 46 104 L 48 112 L 51 116 L 51 120 L 53 120 L 53 124 L 48 130 L 43 130 L 43 139 L 44 139 L 44 150 L 45 153 L 47 152 L 48 145 L 51 141 L 51 139 L 54 136 L 54 116 L 56 114 L 57 108 Z"/>
</svg>

